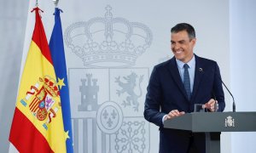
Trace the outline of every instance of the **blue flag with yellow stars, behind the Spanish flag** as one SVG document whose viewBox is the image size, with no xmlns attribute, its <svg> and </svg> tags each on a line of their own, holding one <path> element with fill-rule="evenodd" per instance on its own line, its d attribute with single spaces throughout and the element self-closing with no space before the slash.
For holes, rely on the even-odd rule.
<svg viewBox="0 0 256 153">
<path fill-rule="evenodd" d="M 69 153 L 73 152 L 73 134 L 60 12 L 62 12 L 61 9 L 55 8 L 55 26 L 49 40 L 49 49 L 60 89 L 62 117 L 64 129 L 67 134 L 66 146 L 67 152 Z"/>
</svg>

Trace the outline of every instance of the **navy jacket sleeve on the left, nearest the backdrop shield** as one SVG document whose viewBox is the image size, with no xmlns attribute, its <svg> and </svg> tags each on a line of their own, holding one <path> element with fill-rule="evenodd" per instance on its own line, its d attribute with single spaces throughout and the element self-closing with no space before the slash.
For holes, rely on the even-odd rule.
<svg viewBox="0 0 256 153">
<path fill-rule="evenodd" d="M 154 67 L 151 73 L 147 91 L 148 93 L 146 94 L 144 105 L 144 117 L 148 122 L 153 122 L 155 125 L 163 127 L 162 118 L 166 114 L 160 112 L 162 88 L 157 67 Z"/>
</svg>

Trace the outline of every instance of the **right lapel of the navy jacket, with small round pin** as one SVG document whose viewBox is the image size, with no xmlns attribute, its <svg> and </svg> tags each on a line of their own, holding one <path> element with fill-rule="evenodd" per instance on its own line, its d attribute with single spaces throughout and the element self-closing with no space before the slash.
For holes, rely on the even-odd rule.
<svg viewBox="0 0 256 153">
<path fill-rule="evenodd" d="M 193 87 L 193 93 L 191 97 L 191 102 L 194 102 L 195 95 L 197 92 L 197 89 L 199 88 L 201 78 L 204 75 L 204 65 L 201 63 L 200 57 L 195 55 L 195 80 L 194 80 L 194 87 Z"/>
</svg>

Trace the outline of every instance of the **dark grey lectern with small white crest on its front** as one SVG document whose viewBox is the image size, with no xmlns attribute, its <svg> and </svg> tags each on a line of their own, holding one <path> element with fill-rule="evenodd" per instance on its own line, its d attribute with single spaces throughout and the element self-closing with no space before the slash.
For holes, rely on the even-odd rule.
<svg viewBox="0 0 256 153">
<path fill-rule="evenodd" d="M 221 132 L 256 131 L 256 112 L 193 112 L 166 120 L 164 127 L 206 133 L 207 153 L 219 153 Z"/>
</svg>

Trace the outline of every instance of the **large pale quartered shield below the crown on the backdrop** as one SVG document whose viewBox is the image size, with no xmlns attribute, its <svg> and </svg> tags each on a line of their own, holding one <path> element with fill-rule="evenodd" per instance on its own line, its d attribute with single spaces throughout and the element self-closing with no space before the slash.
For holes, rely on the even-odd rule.
<svg viewBox="0 0 256 153">
<path fill-rule="evenodd" d="M 147 68 L 69 69 L 75 152 L 148 152 Z"/>
</svg>

